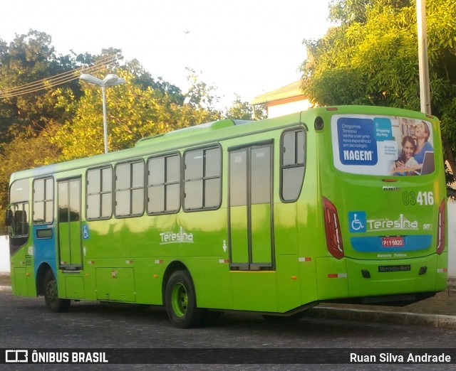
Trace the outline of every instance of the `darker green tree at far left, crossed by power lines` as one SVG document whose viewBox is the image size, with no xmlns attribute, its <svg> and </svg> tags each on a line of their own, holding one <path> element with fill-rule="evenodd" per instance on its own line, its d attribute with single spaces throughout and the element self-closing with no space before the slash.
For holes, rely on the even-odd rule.
<svg viewBox="0 0 456 371">
<path fill-rule="evenodd" d="M 51 36 L 46 33 L 31 30 L 16 36 L 9 45 L 0 40 L 0 92 L 10 92 L 0 100 L 0 143 L 11 141 L 16 133 L 37 133 L 48 122 L 68 114 L 64 108 L 56 109 L 59 98 L 51 88 L 38 90 L 32 85 L 23 95 L 14 93 L 24 89 L 11 90 L 71 71 L 75 66 L 71 56 L 56 55 Z M 68 82 L 59 90 L 61 95 L 77 92 L 75 82 Z"/>
</svg>

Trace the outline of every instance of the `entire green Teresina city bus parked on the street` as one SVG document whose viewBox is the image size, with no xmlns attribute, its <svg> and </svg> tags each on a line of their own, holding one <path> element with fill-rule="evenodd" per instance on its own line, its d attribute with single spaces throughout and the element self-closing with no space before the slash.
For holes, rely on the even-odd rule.
<svg viewBox="0 0 456 371">
<path fill-rule="evenodd" d="M 411 303 L 447 285 L 439 122 L 385 107 L 222 120 L 14 173 L 12 290 L 297 318 L 318 303 Z"/>
</svg>

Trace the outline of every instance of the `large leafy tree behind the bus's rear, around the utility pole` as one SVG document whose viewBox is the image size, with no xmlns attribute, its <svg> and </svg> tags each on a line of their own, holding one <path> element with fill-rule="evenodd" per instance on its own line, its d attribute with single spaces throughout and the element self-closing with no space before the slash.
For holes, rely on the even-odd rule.
<svg viewBox="0 0 456 371">
<path fill-rule="evenodd" d="M 304 41 L 304 92 L 314 104 L 370 104 L 420 110 L 415 1 L 336 0 L 332 27 Z M 456 3 L 427 0 L 432 114 L 456 173 Z"/>
</svg>

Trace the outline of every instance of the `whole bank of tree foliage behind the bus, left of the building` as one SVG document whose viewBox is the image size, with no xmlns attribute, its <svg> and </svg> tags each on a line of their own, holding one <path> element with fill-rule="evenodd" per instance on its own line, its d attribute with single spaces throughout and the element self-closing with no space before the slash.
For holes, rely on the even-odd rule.
<svg viewBox="0 0 456 371">
<path fill-rule="evenodd" d="M 8 204 L 9 177 L 14 171 L 100 154 L 104 148 L 98 87 L 75 78 L 58 87 L 47 84 L 43 90 L 31 89 L 28 94 L 2 93 L 25 84 L 36 86 L 35 82 L 88 67 L 110 55 L 121 55 L 121 51 L 108 48 L 100 55 L 56 55 L 51 36 L 33 30 L 16 35 L 11 43 L 0 39 L 0 213 Z M 188 92 L 152 77 L 138 60 L 111 60 L 93 75 L 103 78 L 108 73 L 126 80 L 106 90 L 110 151 L 131 147 L 145 136 L 224 116 L 215 108 L 217 88 L 200 81 L 193 70 L 189 70 Z M 235 118 L 252 119 L 248 104 L 234 102 L 234 106 L 232 112 L 239 115 Z"/>
</svg>

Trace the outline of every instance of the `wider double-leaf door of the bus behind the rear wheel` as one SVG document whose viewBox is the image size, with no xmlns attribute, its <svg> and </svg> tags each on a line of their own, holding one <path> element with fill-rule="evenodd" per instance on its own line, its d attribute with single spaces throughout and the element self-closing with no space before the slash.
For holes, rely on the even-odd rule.
<svg viewBox="0 0 456 371">
<path fill-rule="evenodd" d="M 229 260 L 237 271 L 274 269 L 272 142 L 229 151 Z"/>
</svg>

